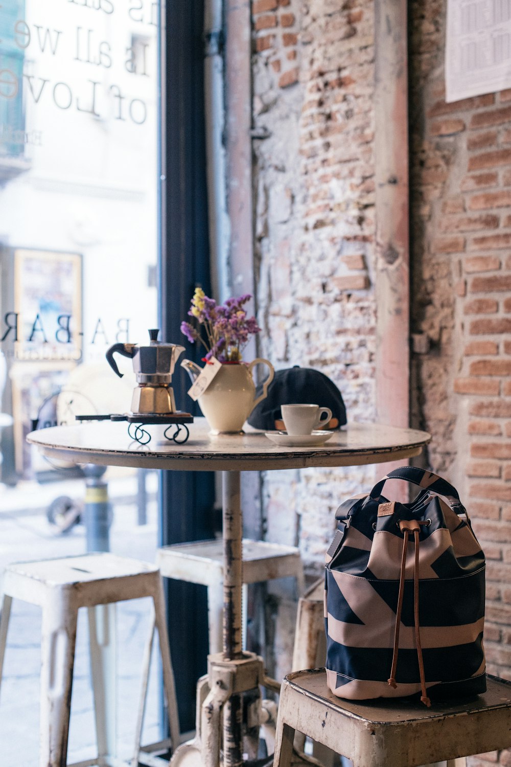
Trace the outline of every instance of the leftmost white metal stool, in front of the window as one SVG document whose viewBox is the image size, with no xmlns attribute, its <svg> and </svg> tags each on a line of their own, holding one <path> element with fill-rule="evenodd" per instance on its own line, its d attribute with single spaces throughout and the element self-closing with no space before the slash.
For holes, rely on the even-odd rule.
<svg viewBox="0 0 511 767">
<path fill-rule="evenodd" d="M 174 676 L 165 624 L 162 580 L 154 565 L 113 554 L 21 562 L 9 565 L 3 582 L 0 617 L 0 682 L 13 598 L 42 608 L 41 631 L 41 767 L 67 764 L 74 645 L 80 607 L 89 608 L 90 656 L 98 755 L 74 767 L 114 767 L 116 759 L 115 711 L 115 602 L 151 597 L 154 622 L 162 653 L 163 686 L 169 710 L 172 744 L 179 743 Z M 142 684 L 146 684 L 150 647 L 146 651 Z M 138 764 L 143 706 L 134 733 L 133 765 Z"/>
</svg>

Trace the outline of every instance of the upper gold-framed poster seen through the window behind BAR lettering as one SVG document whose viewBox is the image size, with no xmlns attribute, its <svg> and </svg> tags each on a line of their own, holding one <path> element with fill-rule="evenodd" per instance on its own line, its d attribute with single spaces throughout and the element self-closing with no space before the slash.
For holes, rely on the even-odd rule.
<svg viewBox="0 0 511 767">
<path fill-rule="evenodd" d="M 80 254 L 15 249 L 15 359 L 79 361 L 81 295 Z"/>
</svg>

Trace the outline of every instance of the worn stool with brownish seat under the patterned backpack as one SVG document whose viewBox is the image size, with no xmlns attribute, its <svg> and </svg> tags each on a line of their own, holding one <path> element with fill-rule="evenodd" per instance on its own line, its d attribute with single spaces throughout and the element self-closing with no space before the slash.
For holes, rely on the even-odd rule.
<svg viewBox="0 0 511 767">
<path fill-rule="evenodd" d="M 420 702 L 354 702 L 333 695 L 324 669 L 286 676 L 274 767 L 289 767 L 295 730 L 352 759 L 354 767 L 416 767 L 511 746 L 511 683 L 488 675 L 487 691 L 426 708 Z"/>
</svg>

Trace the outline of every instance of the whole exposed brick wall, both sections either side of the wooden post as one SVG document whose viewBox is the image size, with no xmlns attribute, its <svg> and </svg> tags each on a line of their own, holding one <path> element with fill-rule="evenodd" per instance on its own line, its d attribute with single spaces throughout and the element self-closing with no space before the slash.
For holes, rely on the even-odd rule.
<svg viewBox="0 0 511 767">
<path fill-rule="evenodd" d="M 286 2 L 253 2 L 262 351 L 323 370 L 363 420 L 375 415 L 373 4 Z M 470 509 L 488 560 L 488 670 L 511 678 L 511 90 L 446 104 L 446 2 L 408 8 L 411 331 L 430 341 L 413 355 L 413 425 L 433 436 L 424 465 Z M 268 538 L 300 540 L 319 572 L 336 504 L 374 473 L 270 472 Z M 511 755 L 471 760 L 490 762 Z"/>
</svg>

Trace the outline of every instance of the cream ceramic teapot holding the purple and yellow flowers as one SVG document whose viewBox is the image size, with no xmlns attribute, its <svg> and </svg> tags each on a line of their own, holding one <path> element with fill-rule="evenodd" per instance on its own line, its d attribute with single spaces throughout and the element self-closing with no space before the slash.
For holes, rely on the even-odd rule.
<svg viewBox="0 0 511 767">
<path fill-rule="evenodd" d="M 257 364 L 266 365 L 269 371 L 260 397 L 256 397 L 252 374 Z M 203 372 L 203 369 L 192 360 L 182 360 L 181 367 L 185 368 L 193 383 Z M 198 404 L 208 421 L 211 433 L 242 433 L 243 424 L 257 403 L 267 396 L 267 389 L 272 380 L 274 380 L 274 367 L 262 357 L 258 357 L 250 364 L 243 362 L 221 364 L 218 373 L 198 397 Z"/>
</svg>

